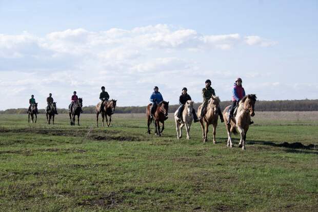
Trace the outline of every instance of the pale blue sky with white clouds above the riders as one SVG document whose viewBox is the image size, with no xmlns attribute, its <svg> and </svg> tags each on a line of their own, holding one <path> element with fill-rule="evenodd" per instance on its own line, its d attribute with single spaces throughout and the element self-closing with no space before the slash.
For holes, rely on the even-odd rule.
<svg viewBox="0 0 318 212">
<path fill-rule="evenodd" d="M 259 100 L 318 99 L 318 1 L 1 1 L 0 110 L 52 93 L 84 106 L 101 86 L 144 106 L 154 86 L 177 104 L 205 80 L 221 101 L 243 79 Z"/>
</svg>

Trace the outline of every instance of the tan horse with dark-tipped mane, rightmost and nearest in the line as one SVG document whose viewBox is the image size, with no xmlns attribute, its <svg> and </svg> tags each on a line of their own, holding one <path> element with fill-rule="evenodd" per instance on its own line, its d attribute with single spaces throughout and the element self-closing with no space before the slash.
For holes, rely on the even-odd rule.
<svg viewBox="0 0 318 212">
<path fill-rule="evenodd" d="M 256 102 L 256 95 L 255 94 L 248 94 L 246 95 L 238 104 L 238 108 L 236 111 L 235 119 L 232 119 L 230 124 L 226 124 L 228 119 L 228 110 L 230 106 L 227 106 L 223 111 L 223 117 L 224 117 L 224 123 L 227 130 L 227 146 L 232 147 L 232 140 L 231 140 L 231 133 L 234 134 L 237 130 L 241 134 L 241 140 L 238 144 L 238 147 L 242 147 L 242 149 L 245 149 L 245 142 L 246 142 L 246 133 L 249 128 L 251 117 L 255 115 L 254 113 L 254 105 Z"/>
</svg>

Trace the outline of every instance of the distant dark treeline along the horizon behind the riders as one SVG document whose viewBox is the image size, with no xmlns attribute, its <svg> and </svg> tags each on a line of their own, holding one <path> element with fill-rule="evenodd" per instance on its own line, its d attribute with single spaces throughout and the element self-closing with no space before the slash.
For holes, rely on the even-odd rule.
<svg viewBox="0 0 318 212">
<path fill-rule="evenodd" d="M 201 103 L 195 103 L 197 110 Z M 224 109 L 230 105 L 230 101 L 221 102 L 221 108 Z M 174 112 L 178 105 L 170 105 L 169 112 Z M 44 109 L 39 109 L 39 113 L 45 113 Z M 68 109 L 58 108 L 59 113 L 68 113 Z M 146 106 L 128 106 L 116 107 L 115 113 L 145 113 Z M 318 100 L 275 100 L 275 101 L 257 101 L 255 111 L 318 111 Z M 95 113 L 95 106 L 83 107 L 84 113 Z M 27 108 L 0 110 L 0 114 L 23 114 L 27 113 Z"/>
</svg>

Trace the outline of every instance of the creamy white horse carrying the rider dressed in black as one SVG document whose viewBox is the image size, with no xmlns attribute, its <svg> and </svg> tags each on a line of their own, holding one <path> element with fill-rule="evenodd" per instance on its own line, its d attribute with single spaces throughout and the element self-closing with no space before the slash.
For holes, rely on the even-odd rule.
<svg viewBox="0 0 318 212">
<path fill-rule="evenodd" d="M 189 132 L 190 132 L 190 126 L 192 124 L 193 121 L 193 115 L 192 115 L 192 110 L 193 110 L 193 101 L 192 100 L 188 100 L 183 108 L 182 111 L 182 120 L 183 123 L 178 122 L 178 118 L 177 118 L 177 113 L 178 110 L 176 110 L 174 112 L 174 121 L 175 121 L 175 127 L 176 127 L 176 138 L 177 139 L 181 139 L 182 137 L 182 128 L 184 126 L 186 126 L 186 130 L 187 130 L 187 139 L 190 139 L 189 136 Z"/>
</svg>

